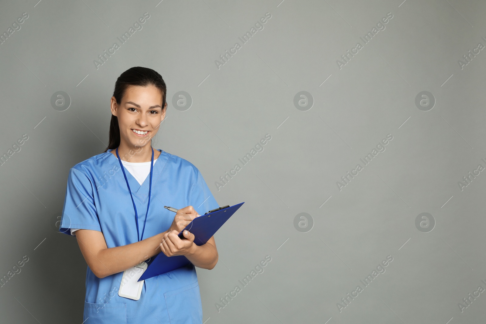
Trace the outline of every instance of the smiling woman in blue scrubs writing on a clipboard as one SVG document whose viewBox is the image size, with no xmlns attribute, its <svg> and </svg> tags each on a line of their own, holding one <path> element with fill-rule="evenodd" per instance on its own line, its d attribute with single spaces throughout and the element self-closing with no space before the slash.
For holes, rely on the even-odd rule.
<svg viewBox="0 0 486 324">
<path fill-rule="evenodd" d="M 190 232 L 183 239 L 177 234 L 219 205 L 191 162 L 152 148 L 166 91 L 153 69 L 121 73 L 111 98 L 108 148 L 69 170 L 59 229 L 76 237 L 87 262 L 85 324 L 202 323 L 195 267 L 214 268 L 216 243 L 212 237 L 198 246 Z M 164 205 L 179 210 L 174 216 Z M 143 271 L 142 261 L 158 253 L 183 255 L 191 264 L 144 280 L 138 299 L 120 296 L 125 270 Z"/>
</svg>

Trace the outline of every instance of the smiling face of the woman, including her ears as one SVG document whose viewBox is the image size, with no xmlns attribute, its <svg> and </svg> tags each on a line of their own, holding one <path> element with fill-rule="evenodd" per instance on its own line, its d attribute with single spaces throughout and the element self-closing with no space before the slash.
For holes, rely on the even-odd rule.
<svg viewBox="0 0 486 324">
<path fill-rule="evenodd" d="M 111 97 L 111 113 L 118 117 L 121 143 L 129 147 L 150 143 L 165 118 L 167 102 L 163 110 L 161 105 L 162 95 L 154 86 L 129 86 L 120 105 Z"/>
</svg>

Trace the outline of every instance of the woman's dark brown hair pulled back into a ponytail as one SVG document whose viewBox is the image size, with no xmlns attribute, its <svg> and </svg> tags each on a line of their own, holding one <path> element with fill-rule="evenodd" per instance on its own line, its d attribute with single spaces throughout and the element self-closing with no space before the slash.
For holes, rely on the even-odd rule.
<svg viewBox="0 0 486 324">
<path fill-rule="evenodd" d="M 115 83 L 115 90 L 113 97 L 115 97 L 118 104 L 121 104 L 121 99 L 125 95 L 125 91 L 129 86 L 155 86 L 162 93 L 162 110 L 165 106 L 165 95 L 167 93 L 167 86 L 164 79 L 151 68 L 133 67 L 121 73 Z M 152 140 L 151 143 L 152 144 Z M 111 115 L 110 133 L 108 147 L 104 152 L 116 149 L 120 146 L 120 127 L 118 126 L 118 117 Z"/>
</svg>

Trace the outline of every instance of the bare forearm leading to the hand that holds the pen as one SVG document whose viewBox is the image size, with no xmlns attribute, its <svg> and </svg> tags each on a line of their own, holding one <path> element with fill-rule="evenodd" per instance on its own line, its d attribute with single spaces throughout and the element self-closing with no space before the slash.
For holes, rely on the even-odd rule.
<svg viewBox="0 0 486 324">
<path fill-rule="evenodd" d="M 100 250 L 98 259 L 98 275 L 104 278 L 108 275 L 129 269 L 141 261 L 155 256 L 160 252 L 160 242 L 165 232 L 157 234 L 139 242 Z"/>
</svg>

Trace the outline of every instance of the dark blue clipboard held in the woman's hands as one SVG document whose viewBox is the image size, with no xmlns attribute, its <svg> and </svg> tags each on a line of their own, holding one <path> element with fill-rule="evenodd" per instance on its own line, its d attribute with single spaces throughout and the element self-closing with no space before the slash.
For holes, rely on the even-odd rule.
<svg viewBox="0 0 486 324">
<path fill-rule="evenodd" d="M 182 238 L 182 232 L 188 230 L 194 234 L 196 245 L 205 244 L 243 204 L 244 202 L 196 217 L 179 233 L 179 237 Z M 166 256 L 163 252 L 160 252 L 150 262 L 147 270 L 138 281 L 173 271 L 190 263 L 191 261 L 185 256 Z"/>
</svg>

